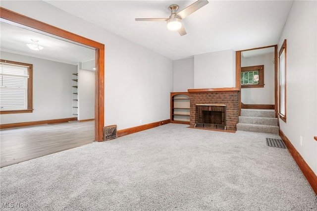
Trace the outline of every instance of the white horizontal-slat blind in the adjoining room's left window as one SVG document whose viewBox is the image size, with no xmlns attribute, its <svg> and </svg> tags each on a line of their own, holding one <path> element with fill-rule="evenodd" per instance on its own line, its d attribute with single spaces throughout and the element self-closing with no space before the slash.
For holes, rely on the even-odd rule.
<svg viewBox="0 0 317 211">
<path fill-rule="evenodd" d="M 28 67 L 0 63 L 0 110 L 27 109 Z"/>
</svg>

